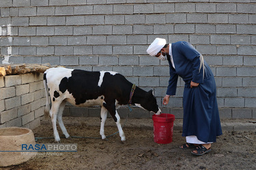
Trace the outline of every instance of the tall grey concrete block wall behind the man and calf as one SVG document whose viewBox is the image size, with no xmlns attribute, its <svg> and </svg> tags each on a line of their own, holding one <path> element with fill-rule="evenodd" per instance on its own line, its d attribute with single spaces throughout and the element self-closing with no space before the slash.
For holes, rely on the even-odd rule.
<svg viewBox="0 0 256 170">
<path fill-rule="evenodd" d="M 117 71 L 153 89 L 162 107 L 169 66 L 148 56 L 147 47 L 156 37 L 189 41 L 215 75 L 221 118 L 256 118 L 255 2 L 1 0 L 0 62 Z M 164 108 L 176 118 L 182 118 L 183 86 L 179 80 L 177 96 Z M 79 113 L 66 109 L 67 115 Z M 91 114 L 85 109 L 84 115 Z"/>
</svg>

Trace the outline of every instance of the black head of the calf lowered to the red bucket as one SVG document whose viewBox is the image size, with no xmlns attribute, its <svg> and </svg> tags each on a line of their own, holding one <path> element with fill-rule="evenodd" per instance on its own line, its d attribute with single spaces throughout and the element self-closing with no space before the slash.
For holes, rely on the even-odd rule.
<svg viewBox="0 0 256 170">
<path fill-rule="evenodd" d="M 135 104 L 137 105 L 137 104 Z M 160 114 L 161 110 L 157 105 L 156 97 L 154 96 L 153 90 L 150 90 L 146 93 L 143 101 L 141 101 L 139 107 L 143 107 L 143 109 L 147 109 L 150 112 L 154 112 L 154 114 Z"/>
</svg>

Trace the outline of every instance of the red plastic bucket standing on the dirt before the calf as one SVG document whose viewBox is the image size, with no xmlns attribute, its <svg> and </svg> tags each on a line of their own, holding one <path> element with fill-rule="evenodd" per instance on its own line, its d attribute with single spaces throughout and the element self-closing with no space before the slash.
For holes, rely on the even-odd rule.
<svg viewBox="0 0 256 170">
<path fill-rule="evenodd" d="M 175 116 L 173 114 L 154 114 L 154 142 L 166 144 L 173 141 L 173 122 Z"/>
</svg>

